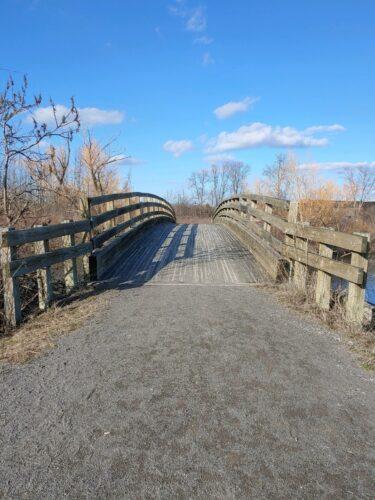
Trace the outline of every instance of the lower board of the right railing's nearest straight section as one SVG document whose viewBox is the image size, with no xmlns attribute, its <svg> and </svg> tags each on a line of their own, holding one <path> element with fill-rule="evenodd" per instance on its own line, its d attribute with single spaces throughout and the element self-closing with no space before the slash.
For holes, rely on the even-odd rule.
<svg viewBox="0 0 375 500">
<path fill-rule="evenodd" d="M 284 245 L 283 254 L 285 257 L 307 264 L 315 269 L 320 269 L 328 274 L 343 278 L 357 285 L 363 282 L 363 269 L 351 264 L 345 264 L 337 260 L 328 259 L 323 255 L 307 252 L 294 246 Z"/>
</svg>

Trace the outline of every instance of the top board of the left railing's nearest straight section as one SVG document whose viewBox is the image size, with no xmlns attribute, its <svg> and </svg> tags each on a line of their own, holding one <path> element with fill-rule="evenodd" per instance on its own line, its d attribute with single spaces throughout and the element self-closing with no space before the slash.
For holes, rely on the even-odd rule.
<svg viewBox="0 0 375 500">
<path fill-rule="evenodd" d="M 79 220 L 69 222 L 68 224 L 51 224 L 30 229 L 17 229 L 7 235 L 7 241 L 4 243 L 9 246 L 18 246 L 25 243 L 34 243 L 35 241 L 51 240 L 60 236 L 66 236 L 67 234 L 88 231 L 90 231 L 90 222 L 88 220 Z"/>
</svg>

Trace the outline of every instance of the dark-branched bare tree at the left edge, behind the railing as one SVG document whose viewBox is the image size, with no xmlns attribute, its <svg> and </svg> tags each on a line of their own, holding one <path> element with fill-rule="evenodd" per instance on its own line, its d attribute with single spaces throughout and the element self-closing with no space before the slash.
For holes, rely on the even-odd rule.
<svg viewBox="0 0 375 500">
<path fill-rule="evenodd" d="M 4 90 L 0 93 L 0 176 L 2 187 L 3 213 L 9 225 L 14 224 L 21 213 L 27 210 L 29 198 L 24 197 L 24 204 L 18 212 L 14 212 L 11 203 L 10 175 L 20 160 L 37 162 L 47 157 L 41 151 L 41 144 L 46 140 L 66 139 L 71 141 L 79 129 L 78 110 L 73 98 L 66 114 L 59 114 L 53 101 L 50 101 L 51 124 L 39 122 L 34 116 L 42 104 L 42 97 L 28 99 L 28 81 L 24 77 L 20 88 L 17 88 L 12 77 L 9 77 Z M 31 192 L 29 193 L 31 194 Z"/>
</svg>

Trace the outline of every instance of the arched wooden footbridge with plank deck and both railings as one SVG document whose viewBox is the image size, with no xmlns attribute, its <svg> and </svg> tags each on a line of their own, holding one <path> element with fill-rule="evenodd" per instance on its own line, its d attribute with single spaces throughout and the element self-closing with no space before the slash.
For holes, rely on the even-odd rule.
<svg viewBox="0 0 375 500">
<path fill-rule="evenodd" d="M 176 225 L 172 206 L 149 193 L 88 198 L 83 213 L 85 219 L 79 221 L 3 230 L 4 303 L 11 326 L 22 317 L 19 278 L 37 272 L 39 307 L 45 310 L 53 301 L 56 264 L 63 264 L 68 293 L 109 276 L 129 285 L 289 279 L 305 289 L 313 274 L 316 302 L 325 310 L 331 306 L 336 277 L 348 283 L 348 318 L 363 321 L 369 236 L 301 223 L 295 202 L 235 196 L 216 208 L 215 225 Z"/>
</svg>

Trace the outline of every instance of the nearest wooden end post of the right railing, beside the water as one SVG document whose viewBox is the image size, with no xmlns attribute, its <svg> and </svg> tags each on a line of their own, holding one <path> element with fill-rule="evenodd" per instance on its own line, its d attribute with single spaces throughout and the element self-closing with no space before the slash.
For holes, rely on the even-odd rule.
<svg viewBox="0 0 375 500">
<path fill-rule="evenodd" d="M 370 235 L 368 233 L 353 233 L 367 238 L 367 249 L 364 253 L 352 252 L 350 263 L 352 266 L 360 267 L 364 270 L 363 282 L 361 285 L 349 283 L 348 298 L 346 302 L 346 317 L 352 323 L 362 323 L 365 311 L 365 292 L 368 268 L 368 256 L 370 249 Z"/>
</svg>

